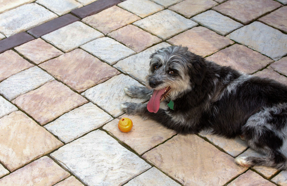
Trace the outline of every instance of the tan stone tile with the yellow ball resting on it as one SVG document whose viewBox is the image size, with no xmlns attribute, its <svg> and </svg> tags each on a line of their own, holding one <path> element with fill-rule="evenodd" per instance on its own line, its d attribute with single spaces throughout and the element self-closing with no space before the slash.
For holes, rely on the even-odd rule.
<svg viewBox="0 0 287 186">
<path fill-rule="evenodd" d="M 118 122 L 121 118 L 130 118 L 133 121 L 133 128 L 130 132 L 124 133 L 119 130 Z M 126 114 L 109 122 L 103 126 L 103 129 L 140 155 L 176 134 L 175 131 L 167 129 L 153 120 L 143 120 L 140 116 Z"/>
</svg>

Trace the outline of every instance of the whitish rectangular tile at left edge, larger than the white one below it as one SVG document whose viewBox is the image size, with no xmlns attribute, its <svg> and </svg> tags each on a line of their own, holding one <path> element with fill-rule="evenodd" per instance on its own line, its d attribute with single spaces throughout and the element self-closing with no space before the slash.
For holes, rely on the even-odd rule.
<svg viewBox="0 0 287 186">
<path fill-rule="evenodd" d="M 38 66 L 33 66 L 8 77 L 0 83 L 0 93 L 9 101 L 55 80 Z"/>
</svg>

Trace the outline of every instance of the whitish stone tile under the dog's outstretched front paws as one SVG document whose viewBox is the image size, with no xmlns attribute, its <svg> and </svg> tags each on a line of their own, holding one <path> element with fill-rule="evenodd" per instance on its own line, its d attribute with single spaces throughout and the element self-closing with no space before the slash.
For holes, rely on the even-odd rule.
<svg viewBox="0 0 287 186">
<path fill-rule="evenodd" d="M 140 103 L 144 100 L 131 98 L 124 91 L 123 87 L 126 85 L 139 85 L 140 84 L 129 76 L 120 74 L 112 77 L 108 81 L 96 85 L 82 93 L 93 103 L 99 105 L 104 110 L 108 111 L 114 117 L 123 114 L 121 110 L 121 103 L 125 101 L 132 101 Z M 108 104 L 107 104 L 108 103 Z"/>
</svg>

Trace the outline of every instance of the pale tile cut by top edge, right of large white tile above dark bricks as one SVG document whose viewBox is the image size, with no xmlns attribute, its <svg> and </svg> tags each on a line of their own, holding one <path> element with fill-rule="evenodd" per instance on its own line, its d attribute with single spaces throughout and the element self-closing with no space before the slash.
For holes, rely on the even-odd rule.
<svg viewBox="0 0 287 186">
<path fill-rule="evenodd" d="M 83 6 L 81 3 L 74 0 L 37 0 L 36 3 L 43 5 L 58 15 L 64 15 L 73 9 Z"/>
</svg>

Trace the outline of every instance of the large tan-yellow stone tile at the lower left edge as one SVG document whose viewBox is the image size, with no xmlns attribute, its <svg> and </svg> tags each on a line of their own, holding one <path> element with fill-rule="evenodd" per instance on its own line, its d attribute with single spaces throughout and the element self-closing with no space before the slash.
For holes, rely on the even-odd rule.
<svg viewBox="0 0 287 186">
<path fill-rule="evenodd" d="M 21 111 L 1 118 L 0 131 L 0 161 L 9 171 L 15 171 L 63 145 Z"/>
</svg>

